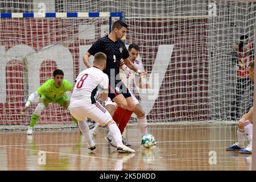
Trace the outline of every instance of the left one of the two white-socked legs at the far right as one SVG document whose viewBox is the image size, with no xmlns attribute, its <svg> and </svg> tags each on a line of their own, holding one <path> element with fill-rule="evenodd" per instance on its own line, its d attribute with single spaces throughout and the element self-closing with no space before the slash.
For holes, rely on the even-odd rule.
<svg viewBox="0 0 256 182">
<path fill-rule="evenodd" d="M 239 126 L 237 128 L 237 142 L 234 143 L 232 146 L 226 148 L 227 151 L 234 151 L 234 150 L 243 150 L 245 148 L 245 129 L 243 126 Z"/>
</svg>

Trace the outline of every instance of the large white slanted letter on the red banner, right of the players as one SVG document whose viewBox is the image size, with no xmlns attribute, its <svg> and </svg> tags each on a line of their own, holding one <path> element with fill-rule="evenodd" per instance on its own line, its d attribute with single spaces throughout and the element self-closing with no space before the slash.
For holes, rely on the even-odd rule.
<svg viewBox="0 0 256 182">
<path fill-rule="evenodd" d="M 164 76 L 166 75 L 173 50 L 174 45 L 160 45 L 158 47 L 158 53 L 148 79 L 151 89 L 139 89 L 137 87 L 139 96 L 141 97 L 141 105 L 146 115 L 150 113 L 155 104 L 155 100 L 158 98 L 160 86 L 162 85 Z"/>
</svg>

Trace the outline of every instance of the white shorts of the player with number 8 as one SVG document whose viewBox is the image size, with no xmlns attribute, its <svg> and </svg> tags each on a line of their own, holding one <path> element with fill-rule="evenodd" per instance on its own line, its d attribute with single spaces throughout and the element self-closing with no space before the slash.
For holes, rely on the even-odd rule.
<svg viewBox="0 0 256 182">
<path fill-rule="evenodd" d="M 85 104 L 80 107 L 71 107 L 70 113 L 79 121 L 85 121 L 86 118 L 90 118 L 101 125 L 105 125 L 112 119 L 108 110 L 98 102 L 95 104 Z"/>
</svg>

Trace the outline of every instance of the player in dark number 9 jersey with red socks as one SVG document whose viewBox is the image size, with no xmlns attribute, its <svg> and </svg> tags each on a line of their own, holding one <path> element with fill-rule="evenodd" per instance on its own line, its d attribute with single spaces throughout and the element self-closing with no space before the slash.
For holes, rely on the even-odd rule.
<svg viewBox="0 0 256 182">
<path fill-rule="evenodd" d="M 113 114 L 114 121 L 119 123 L 127 123 L 134 111 L 134 102 L 131 98 L 129 89 L 119 77 L 119 67 L 121 60 L 134 72 L 139 75 L 147 75 L 146 72 L 138 69 L 129 59 L 129 52 L 122 42 L 122 37 L 127 31 L 127 24 L 121 20 L 113 23 L 112 32 L 103 38 L 98 39 L 88 52 L 83 56 L 86 67 L 90 68 L 89 57 L 97 52 L 103 52 L 107 56 L 106 69 L 104 73 L 109 77 L 109 98 L 117 103 L 118 107 Z M 110 141 L 109 141 L 110 142 Z"/>
</svg>

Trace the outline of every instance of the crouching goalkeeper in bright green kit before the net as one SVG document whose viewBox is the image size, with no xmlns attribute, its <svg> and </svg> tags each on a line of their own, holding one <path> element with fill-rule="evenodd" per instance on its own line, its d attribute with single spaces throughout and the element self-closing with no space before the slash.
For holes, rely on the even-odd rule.
<svg viewBox="0 0 256 182">
<path fill-rule="evenodd" d="M 32 118 L 30 121 L 30 126 L 28 126 L 27 134 L 33 134 L 33 127 L 36 122 L 39 120 L 44 107 L 48 106 L 49 103 L 58 103 L 60 106 L 63 106 L 65 109 L 69 110 L 69 99 L 65 92 L 72 92 L 73 84 L 64 79 L 64 73 L 60 69 L 53 71 L 53 78 L 44 82 L 36 92 L 30 94 L 26 105 L 23 107 L 22 111 L 25 111 L 31 102 L 35 100 L 36 97 L 40 96 L 39 104 L 36 106 Z M 77 124 L 77 119 L 72 117 L 73 121 Z"/>
</svg>

